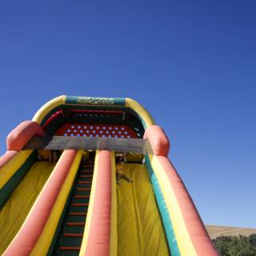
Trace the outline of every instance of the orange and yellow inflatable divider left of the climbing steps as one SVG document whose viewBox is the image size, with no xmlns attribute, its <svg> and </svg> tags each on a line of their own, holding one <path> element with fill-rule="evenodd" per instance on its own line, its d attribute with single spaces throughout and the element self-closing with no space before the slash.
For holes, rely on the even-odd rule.
<svg viewBox="0 0 256 256">
<path fill-rule="evenodd" d="M 82 159 L 82 151 L 65 150 L 38 195 L 18 234 L 3 255 L 46 255 Z"/>
</svg>

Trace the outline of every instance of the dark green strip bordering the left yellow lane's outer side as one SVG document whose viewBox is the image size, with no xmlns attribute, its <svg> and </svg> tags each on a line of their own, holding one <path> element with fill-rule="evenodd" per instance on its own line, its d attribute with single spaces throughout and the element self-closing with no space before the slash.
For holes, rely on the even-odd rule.
<svg viewBox="0 0 256 256">
<path fill-rule="evenodd" d="M 10 198 L 10 195 L 15 190 L 18 183 L 21 182 L 22 178 L 26 175 L 27 171 L 30 170 L 31 166 L 34 165 L 36 157 L 36 151 L 34 150 L 28 158 L 26 158 L 25 162 L 23 162 L 22 166 L 18 167 L 11 178 L 6 181 L 6 183 L 0 189 L 0 208 L 6 203 L 6 201 Z"/>
</svg>

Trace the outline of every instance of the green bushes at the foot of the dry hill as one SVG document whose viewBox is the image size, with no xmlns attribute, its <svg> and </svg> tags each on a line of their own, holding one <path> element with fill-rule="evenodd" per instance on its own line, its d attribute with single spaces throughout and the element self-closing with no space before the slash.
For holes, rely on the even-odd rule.
<svg viewBox="0 0 256 256">
<path fill-rule="evenodd" d="M 222 256 L 256 256 L 256 234 L 249 238 L 242 235 L 222 236 L 215 238 L 213 242 Z"/>
</svg>

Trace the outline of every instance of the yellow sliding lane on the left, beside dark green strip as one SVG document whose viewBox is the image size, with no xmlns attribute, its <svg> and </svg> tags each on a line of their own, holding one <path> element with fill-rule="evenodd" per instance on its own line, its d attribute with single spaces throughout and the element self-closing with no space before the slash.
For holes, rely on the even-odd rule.
<svg viewBox="0 0 256 256">
<path fill-rule="evenodd" d="M 22 226 L 53 168 L 48 162 L 36 162 L 0 210 L 0 254 Z"/>
</svg>

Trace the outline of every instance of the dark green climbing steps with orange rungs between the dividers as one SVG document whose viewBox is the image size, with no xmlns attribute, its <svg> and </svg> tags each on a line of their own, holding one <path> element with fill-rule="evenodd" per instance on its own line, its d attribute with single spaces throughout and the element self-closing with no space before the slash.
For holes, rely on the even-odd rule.
<svg viewBox="0 0 256 256">
<path fill-rule="evenodd" d="M 73 256 L 79 254 L 89 206 L 93 172 L 94 162 L 84 162 L 78 170 L 78 177 L 66 210 L 54 255 Z"/>
</svg>

